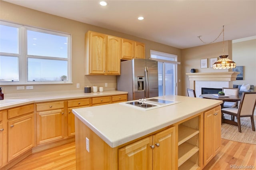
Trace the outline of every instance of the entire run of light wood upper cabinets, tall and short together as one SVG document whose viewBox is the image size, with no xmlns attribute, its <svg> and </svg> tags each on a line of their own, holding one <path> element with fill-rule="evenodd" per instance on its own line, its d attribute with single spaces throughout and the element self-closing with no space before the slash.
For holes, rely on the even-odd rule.
<svg viewBox="0 0 256 170">
<path fill-rule="evenodd" d="M 85 75 L 120 75 L 120 59 L 145 58 L 144 43 L 88 31 Z"/>
</svg>

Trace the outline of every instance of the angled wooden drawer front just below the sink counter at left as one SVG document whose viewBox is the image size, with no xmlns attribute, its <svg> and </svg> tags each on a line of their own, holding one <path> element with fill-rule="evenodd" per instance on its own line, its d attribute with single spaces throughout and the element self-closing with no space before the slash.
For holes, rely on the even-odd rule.
<svg viewBox="0 0 256 170">
<path fill-rule="evenodd" d="M 28 113 L 34 112 L 34 105 L 26 105 L 22 107 L 17 107 L 15 109 L 8 110 L 8 119 L 18 117 L 21 115 L 26 115 Z"/>
</svg>

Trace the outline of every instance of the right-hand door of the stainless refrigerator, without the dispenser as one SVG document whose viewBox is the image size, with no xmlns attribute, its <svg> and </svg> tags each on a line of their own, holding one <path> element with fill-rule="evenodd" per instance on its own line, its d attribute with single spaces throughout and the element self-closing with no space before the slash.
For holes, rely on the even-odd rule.
<svg viewBox="0 0 256 170">
<path fill-rule="evenodd" d="M 149 87 L 149 97 L 158 96 L 158 62 L 146 59 L 146 67 L 148 68 L 148 87 Z"/>
</svg>

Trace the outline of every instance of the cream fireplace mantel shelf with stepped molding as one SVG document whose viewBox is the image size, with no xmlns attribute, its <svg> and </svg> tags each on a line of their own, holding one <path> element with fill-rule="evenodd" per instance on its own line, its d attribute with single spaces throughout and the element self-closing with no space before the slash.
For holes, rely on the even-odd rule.
<svg viewBox="0 0 256 170">
<path fill-rule="evenodd" d="M 186 73 L 189 81 L 235 81 L 239 72 Z"/>
</svg>

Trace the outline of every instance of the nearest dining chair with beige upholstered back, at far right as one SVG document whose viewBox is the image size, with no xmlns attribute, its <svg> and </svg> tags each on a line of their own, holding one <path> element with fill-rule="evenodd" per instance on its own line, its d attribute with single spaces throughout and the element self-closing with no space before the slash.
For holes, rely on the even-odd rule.
<svg viewBox="0 0 256 170">
<path fill-rule="evenodd" d="M 230 107 L 221 109 L 222 113 L 222 123 L 228 123 L 231 125 L 238 126 L 238 131 L 241 130 L 241 117 L 250 117 L 252 123 L 252 131 L 255 131 L 254 125 L 254 109 L 256 105 L 256 92 L 244 92 L 242 93 L 242 99 L 238 108 Z M 234 120 L 224 119 L 223 114 L 226 113 L 228 115 L 234 116 L 237 119 L 237 122 Z"/>
</svg>

